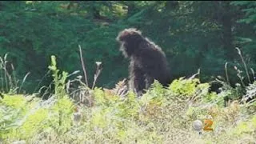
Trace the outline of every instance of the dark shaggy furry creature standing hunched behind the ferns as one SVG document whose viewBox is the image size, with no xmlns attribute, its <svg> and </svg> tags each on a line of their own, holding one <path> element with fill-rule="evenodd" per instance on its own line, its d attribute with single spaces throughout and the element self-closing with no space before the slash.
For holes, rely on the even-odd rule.
<svg viewBox="0 0 256 144">
<path fill-rule="evenodd" d="M 142 36 L 134 28 L 122 30 L 116 38 L 122 54 L 130 59 L 130 89 L 138 95 L 158 80 L 163 86 L 170 84 L 170 70 L 162 49 Z"/>
</svg>

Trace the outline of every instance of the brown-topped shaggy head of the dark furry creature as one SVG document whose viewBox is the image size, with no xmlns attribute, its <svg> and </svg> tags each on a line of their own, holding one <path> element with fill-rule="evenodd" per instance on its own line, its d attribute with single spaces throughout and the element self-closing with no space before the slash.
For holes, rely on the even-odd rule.
<svg viewBox="0 0 256 144">
<path fill-rule="evenodd" d="M 126 58 L 134 54 L 134 50 L 138 48 L 138 44 L 143 40 L 142 32 L 134 28 L 122 30 L 116 40 L 121 43 L 120 50 Z"/>
</svg>

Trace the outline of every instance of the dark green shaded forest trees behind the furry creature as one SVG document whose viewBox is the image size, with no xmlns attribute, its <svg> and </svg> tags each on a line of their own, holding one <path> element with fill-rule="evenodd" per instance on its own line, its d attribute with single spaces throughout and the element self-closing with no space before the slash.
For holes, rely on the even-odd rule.
<svg viewBox="0 0 256 144">
<path fill-rule="evenodd" d="M 90 84 L 95 62 L 102 62 L 97 86 L 111 88 L 128 76 L 128 60 L 115 38 L 135 27 L 162 47 L 174 78 L 200 69 L 199 78 L 209 82 L 225 76 L 228 62 L 234 85 L 237 70 L 246 74 L 236 47 L 250 76 L 256 68 L 255 7 L 246 1 L 1 1 L 0 54 L 8 53 L 7 69 L 18 79 L 30 72 L 23 87 L 32 93 L 52 81 L 50 55 L 57 56 L 59 69 L 82 75 L 80 45 Z"/>
</svg>

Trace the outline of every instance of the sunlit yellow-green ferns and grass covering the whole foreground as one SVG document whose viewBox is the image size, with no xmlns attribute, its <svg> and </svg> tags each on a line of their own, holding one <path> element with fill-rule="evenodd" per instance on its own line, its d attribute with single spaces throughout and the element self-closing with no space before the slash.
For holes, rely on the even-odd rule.
<svg viewBox="0 0 256 144">
<path fill-rule="evenodd" d="M 233 90 L 209 92 L 210 83 L 178 78 L 168 87 L 158 81 L 141 98 L 120 97 L 101 87 L 83 87 L 88 103 L 75 103 L 68 93 L 66 72 L 54 56 L 49 66 L 54 93 L 42 100 L 32 95 L 4 93 L 0 98 L 2 143 L 253 143 L 256 141 L 256 102 L 230 102 Z M 66 82 L 68 81 L 68 82 Z M 254 95 L 255 83 L 246 87 Z M 192 123 L 211 115 L 213 131 L 198 134 Z"/>
</svg>

